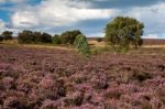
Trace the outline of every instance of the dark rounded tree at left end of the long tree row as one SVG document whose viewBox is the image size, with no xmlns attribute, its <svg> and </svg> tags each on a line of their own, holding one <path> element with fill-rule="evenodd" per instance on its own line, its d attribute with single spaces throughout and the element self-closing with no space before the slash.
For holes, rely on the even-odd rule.
<svg viewBox="0 0 165 109">
<path fill-rule="evenodd" d="M 33 43 L 34 42 L 34 35 L 32 31 L 24 30 L 18 34 L 18 41 L 19 43 Z"/>
</svg>

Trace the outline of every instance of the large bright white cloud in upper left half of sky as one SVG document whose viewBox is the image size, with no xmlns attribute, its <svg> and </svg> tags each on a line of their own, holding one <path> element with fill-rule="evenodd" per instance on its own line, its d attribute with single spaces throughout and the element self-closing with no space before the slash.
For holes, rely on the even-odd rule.
<svg viewBox="0 0 165 109">
<path fill-rule="evenodd" d="M 12 15 L 12 24 L 22 26 L 63 26 L 81 20 L 107 19 L 116 14 L 112 9 L 90 9 L 90 4 L 76 0 L 45 0 Z"/>
</svg>

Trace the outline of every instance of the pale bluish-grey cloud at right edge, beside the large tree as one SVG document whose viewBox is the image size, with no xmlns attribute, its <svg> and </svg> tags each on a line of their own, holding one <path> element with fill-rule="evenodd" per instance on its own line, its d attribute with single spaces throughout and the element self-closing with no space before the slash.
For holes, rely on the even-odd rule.
<svg viewBox="0 0 165 109">
<path fill-rule="evenodd" d="M 165 31 L 165 3 L 160 2 L 154 6 L 143 7 L 143 8 L 132 8 L 131 11 L 127 13 L 129 17 L 136 18 L 138 20 L 144 22 L 145 30 L 144 33 L 148 37 L 160 37 L 156 34 L 162 34 Z M 152 35 L 151 35 L 152 34 Z"/>
</svg>

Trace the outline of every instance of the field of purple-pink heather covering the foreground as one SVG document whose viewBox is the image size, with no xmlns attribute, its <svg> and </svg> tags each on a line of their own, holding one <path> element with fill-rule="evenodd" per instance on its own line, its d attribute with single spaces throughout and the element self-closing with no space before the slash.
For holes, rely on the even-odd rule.
<svg viewBox="0 0 165 109">
<path fill-rule="evenodd" d="M 0 109 L 164 109 L 165 50 L 105 53 L 0 46 Z"/>
</svg>

